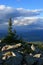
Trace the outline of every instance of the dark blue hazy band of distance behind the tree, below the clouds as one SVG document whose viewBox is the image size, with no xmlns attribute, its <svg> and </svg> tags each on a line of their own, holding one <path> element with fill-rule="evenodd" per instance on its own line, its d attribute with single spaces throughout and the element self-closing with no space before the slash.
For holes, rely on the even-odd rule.
<svg viewBox="0 0 43 65">
<path fill-rule="evenodd" d="M 26 41 L 43 41 L 43 30 L 17 30 L 17 34 Z M 0 30 L 0 38 L 7 35 L 6 30 Z"/>
</svg>

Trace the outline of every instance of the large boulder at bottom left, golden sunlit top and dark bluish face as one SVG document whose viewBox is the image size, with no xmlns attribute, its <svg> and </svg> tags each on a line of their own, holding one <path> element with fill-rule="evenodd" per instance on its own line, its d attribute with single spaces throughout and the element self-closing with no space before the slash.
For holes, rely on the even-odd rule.
<svg viewBox="0 0 43 65">
<path fill-rule="evenodd" d="M 18 52 L 6 52 L 0 59 L 0 65 L 21 65 L 23 56 Z"/>
</svg>

